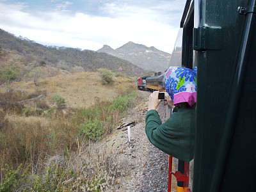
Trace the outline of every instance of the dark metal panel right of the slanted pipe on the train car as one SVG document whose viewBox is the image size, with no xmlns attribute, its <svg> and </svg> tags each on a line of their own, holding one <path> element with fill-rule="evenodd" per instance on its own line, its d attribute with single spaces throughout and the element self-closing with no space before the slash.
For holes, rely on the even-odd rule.
<svg viewBox="0 0 256 192">
<path fill-rule="evenodd" d="M 256 29 L 254 27 L 254 34 Z M 256 172 L 256 38 L 252 39 L 221 191 L 253 191 Z M 227 183 L 232 181 L 232 185 Z M 243 185 L 241 185 L 243 184 Z"/>
</svg>

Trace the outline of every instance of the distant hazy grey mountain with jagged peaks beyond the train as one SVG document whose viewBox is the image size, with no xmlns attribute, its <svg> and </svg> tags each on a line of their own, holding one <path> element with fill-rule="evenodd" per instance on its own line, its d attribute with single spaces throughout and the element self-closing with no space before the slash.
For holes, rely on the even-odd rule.
<svg viewBox="0 0 256 192">
<path fill-rule="evenodd" d="M 155 47 L 134 44 L 133 42 L 128 42 L 117 49 L 104 45 L 97 52 L 106 52 L 112 56 L 130 61 L 145 70 L 154 70 L 156 72 L 166 70 L 171 58 L 171 54 L 167 52 L 159 51 Z"/>
</svg>

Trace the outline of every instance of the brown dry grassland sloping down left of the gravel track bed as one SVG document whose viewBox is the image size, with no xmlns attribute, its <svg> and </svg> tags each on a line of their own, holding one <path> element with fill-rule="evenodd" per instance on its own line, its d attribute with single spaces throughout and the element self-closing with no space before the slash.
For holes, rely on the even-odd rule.
<svg viewBox="0 0 256 192">
<path fill-rule="evenodd" d="M 116 98 L 136 92 L 136 83 L 127 77 L 114 77 L 113 83 L 103 85 L 97 72 L 82 72 L 39 79 L 38 86 L 33 81 L 20 81 L 8 84 L 7 88 L 9 92 L 6 84 L 0 86 L 0 191 L 15 190 L 15 186 L 24 191 L 72 191 L 78 189 L 74 182 L 65 188 L 61 186 L 71 177 L 79 178 L 79 171 L 67 165 L 70 158 L 88 146 L 90 140 L 97 141 L 115 128 L 124 111 L 112 110 L 109 106 Z M 53 95 L 63 99 L 61 104 Z M 95 109 L 98 111 L 93 111 Z M 94 117 L 97 118 L 92 122 Z M 77 129 L 79 125 L 87 126 L 84 121 L 104 128 L 101 132 L 92 129 L 95 135 L 88 136 L 88 131 Z M 49 159 L 53 157 L 61 157 L 61 161 L 51 161 L 55 163 L 50 166 Z M 67 159 L 65 163 L 63 158 Z M 26 168 L 27 175 L 36 183 L 27 177 L 24 179 Z M 51 169 L 54 176 L 50 179 Z M 15 170 L 19 170 L 19 174 Z M 18 174 L 19 179 L 12 183 L 17 175 L 9 173 Z M 9 174 L 9 183 L 6 174 Z M 47 179 L 44 174 L 48 175 Z M 93 180 L 95 177 L 91 175 L 83 181 L 88 188 L 99 186 Z M 26 186 L 20 187 L 21 182 Z"/>
</svg>

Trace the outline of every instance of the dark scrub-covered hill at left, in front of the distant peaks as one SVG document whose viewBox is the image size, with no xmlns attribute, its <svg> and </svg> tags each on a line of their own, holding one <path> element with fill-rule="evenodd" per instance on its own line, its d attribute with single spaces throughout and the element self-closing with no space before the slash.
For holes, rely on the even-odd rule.
<svg viewBox="0 0 256 192">
<path fill-rule="evenodd" d="M 2 29 L 0 66 L 19 68 L 20 76 L 38 66 L 54 67 L 68 72 L 95 72 L 98 68 L 108 68 L 125 76 L 145 73 L 145 70 L 131 62 L 106 53 L 68 47 L 47 47 L 22 36 L 17 38 Z"/>
</svg>

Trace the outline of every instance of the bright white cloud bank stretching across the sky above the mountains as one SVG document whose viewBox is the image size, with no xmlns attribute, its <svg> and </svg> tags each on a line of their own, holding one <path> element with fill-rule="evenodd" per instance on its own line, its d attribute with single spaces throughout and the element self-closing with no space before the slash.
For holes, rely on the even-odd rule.
<svg viewBox="0 0 256 192">
<path fill-rule="evenodd" d="M 28 12 L 28 5 L 24 3 L 0 3 L 0 28 L 44 45 L 97 51 L 104 44 L 116 49 L 132 41 L 172 52 L 179 23 L 168 24 L 168 7 L 159 5 L 148 9 L 127 3 L 106 3 L 100 7 L 106 16 L 100 17 L 63 12 L 70 4 L 70 1 L 61 1 L 54 11 Z M 172 10 L 177 7 L 173 6 Z"/>
</svg>

